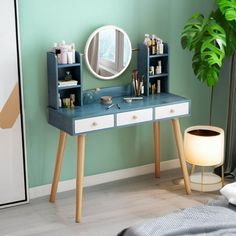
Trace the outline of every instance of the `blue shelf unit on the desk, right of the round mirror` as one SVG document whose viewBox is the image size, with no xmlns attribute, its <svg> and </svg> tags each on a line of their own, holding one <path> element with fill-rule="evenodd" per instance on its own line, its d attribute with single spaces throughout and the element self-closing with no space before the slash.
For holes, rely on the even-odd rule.
<svg viewBox="0 0 236 236">
<path fill-rule="evenodd" d="M 169 92 L 169 50 L 168 50 L 168 44 L 167 43 L 163 44 L 164 44 L 163 54 L 155 54 L 155 55 L 150 55 L 149 48 L 144 43 L 138 45 L 139 49 L 138 73 L 139 77 L 141 77 L 142 75 L 145 76 L 145 81 L 144 81 L 145 96 L 149 96 L 152 94 L 150 88 L 153 84 L 155 84 L 156 87 L 157 85 L 160 85 L 160 89 L 156 90 L 154 93 Z M 151 66 L 154 66 L 155 68 L 158 65 L 158 61 L 161 61 L 161 67 L 162 67 L 161 74 L 150 75 L 149 68 Z"/>
</svg>

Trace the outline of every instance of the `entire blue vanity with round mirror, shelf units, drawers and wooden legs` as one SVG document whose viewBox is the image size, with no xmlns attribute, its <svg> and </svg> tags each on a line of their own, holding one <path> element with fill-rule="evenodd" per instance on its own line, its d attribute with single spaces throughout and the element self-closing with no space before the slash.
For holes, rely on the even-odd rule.
<svg viewBox="0 0 236 236">
<path fill-rule="evenodd" d="M 116 40 L 111 43 L 112 39 Z M 110 47 L 107 47 L 108 43 Z M 74 62 L 68 64 L 59 61 L 61 57 L 56 54 L 57 50 L 47 53 L 48 122 L 60 130 L 50 202 L 56 200 L 66 136 L 77 136 L 76 222 L 81 220 L 85 137 L 90 132 L 134 126 L 144 122 L 153 123 L 155 176 L 160 177 L 160 121 L 170 119 L 185 190 L 187 194 L 191 192 L 179 124 L 180 117 L 190 114 L 191 102 L 189 99 L 169 93 L 169 50 L 167 43 L 161 42 L 160 45 L 162 51 L 155 55 L 150 52 L 147 45 L 139 45 L 138 70 L 133 71 L 129 85 L 103 88 L 99 91 L 83 90 L 82 60 L 79 52 L 75 51 Z M 61 49 L 64 48 L 65 43 L 61 45 Z M 130 63 L 131 53 L 128 35 L 122 29 L 108 25 L 91 34 L 85 46 L 84 56 L 89 71 L 99 79 L 108 80 L 117 78 L 125 71 Z M 107 55 L 112 57 L 109 58 Z M 152 70 L 151 74 L 150 68 L 154 67 L 158 70 Z M 143 88 L 142 99 L 125 101 L 124 97 L 139 95 L 137 88 L 138 92 Z M 104 105 L 100 101 L 102 96 L 108 95 L 112 96 L 114 104 L 109 108 L 109 105 Z M 89 97 L 92 99 L 88 99 Z"/>
</svg>

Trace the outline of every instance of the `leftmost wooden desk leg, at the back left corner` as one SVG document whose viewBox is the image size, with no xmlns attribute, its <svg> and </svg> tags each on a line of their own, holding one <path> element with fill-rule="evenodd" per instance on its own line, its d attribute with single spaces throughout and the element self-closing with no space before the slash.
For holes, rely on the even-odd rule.
<svg viewBox="0 0 236 236">
<path fill-rule="evenodd" d="M 52 187 L 51 187 L 51 195 L 50 195 L 50 202 L 55 202 L 56 200 L 56 194 L 57 194 L 57 187 L 58 187 L 58 181 L 60 179 L 60 173 L 61 173 L 61 165 L 62 165 L 62 159 L 65 149 L 65 142 L 66 142 L 66 136 L 67 134 L 64 131 L 60 131 L 60 138 L 57 148 L 57 159 L 54 169 L 54 176 L 52 181 Z"/>
</svg>

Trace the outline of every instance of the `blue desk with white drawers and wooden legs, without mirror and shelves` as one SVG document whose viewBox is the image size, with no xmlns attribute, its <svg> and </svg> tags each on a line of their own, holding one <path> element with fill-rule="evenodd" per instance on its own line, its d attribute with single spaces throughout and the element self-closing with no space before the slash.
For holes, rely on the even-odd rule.
<svg viewBox="0 0 236 236">
<path fill-rule="evenodd" d="M 55 202 L 56 199 L 66 136 L 67 134 L 77 136 L 76 222 L 81 220 L 85 137 L 90 132 L 152 122 L 155 176 L 160 177 L 160 121 L 171 119 L 185 189 L 187 194 L 191 192 L 179 124 L 179 117 L 187 116 L 190 113 L 190 100 L 169 93 L 161 93 L 144 97 L 143 100 L 132 103 L 125 102 L 123 97 L 114 97 L 113 103 L 119 104 L 120 108 L 107 109 L 108 105 L 103 105 L 99 101 L 75 109 L 60 108 L 56 110 L 49 108 L 49 123 L 60 129 L 50 202 Z"/>
</svg>

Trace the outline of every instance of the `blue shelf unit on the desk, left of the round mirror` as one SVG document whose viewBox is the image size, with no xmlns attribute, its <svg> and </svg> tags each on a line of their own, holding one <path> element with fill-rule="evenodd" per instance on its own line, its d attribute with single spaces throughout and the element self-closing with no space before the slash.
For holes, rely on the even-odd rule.
<svg viewBox="0 0 236 236">
<path fill-rule="evenodd" d="M 75 96 L 75 106 L 83 106 L 82 100 L 82 60 L 79 52 L 75 52 L 74 64 L 58 64 L 57 56 L 53 52 L 47 53 L 48 67 L 48 105 L 51 108 L 59 109 L 59 96 L 63 99 Z M 76 80 L 76 85 L 59 86 L 59 81 L 65 81 L 66 72 L 70 72 L 72 80 Z M 59 96 L 58 96 L 59 95 Z"/>
</svg>

